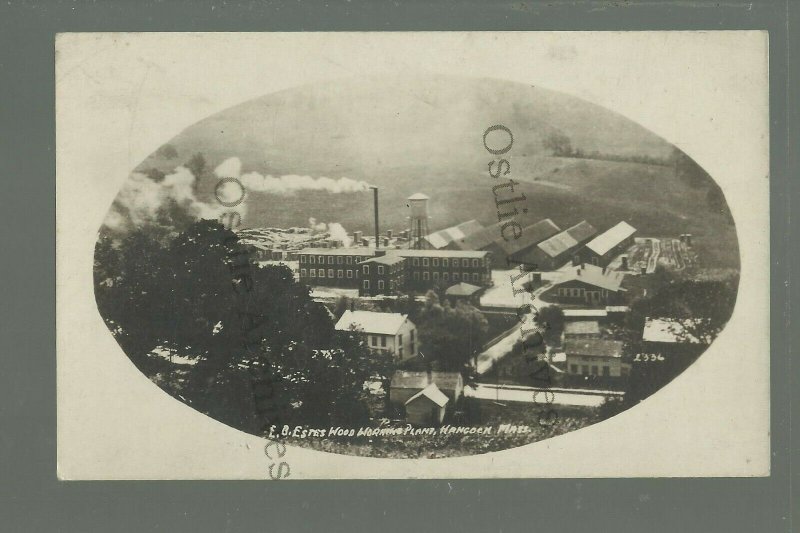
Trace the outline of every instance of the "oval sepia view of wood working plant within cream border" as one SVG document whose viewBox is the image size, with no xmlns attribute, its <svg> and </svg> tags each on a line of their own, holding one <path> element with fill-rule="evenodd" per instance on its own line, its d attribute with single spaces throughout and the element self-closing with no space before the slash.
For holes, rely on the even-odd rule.
<svg viewBox="0 0 800 533">
<path fill-rule="evenodd" d="M 99 229 L 98 309 L 154 386 L 284 450 L 456 457 L 602 423 L 733 311 L 713 177 L 565 93 L 352 78 L 174 133 Z"/>
</svg>

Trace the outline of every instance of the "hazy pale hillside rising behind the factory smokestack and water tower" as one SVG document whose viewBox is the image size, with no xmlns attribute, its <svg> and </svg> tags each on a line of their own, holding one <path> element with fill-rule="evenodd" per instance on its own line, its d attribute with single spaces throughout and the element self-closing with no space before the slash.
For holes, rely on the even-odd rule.
<svg viewBox="0 0 800 533">
<path fill-rule="evenodd" d="M 543 140 L 568 137 L 584 153 L 667 160 L 674 148 L 638 124 L 578 98 L 493 79 L 449 76 L 348 79 L 302 86 L 245 102 L 181 132 L 178 157 L 154 154 L 138 170 L 169 171 L 201 152 L 214 168 L 238 157 L 244 172 L 365 180 L 380 188 L 381 225 L 407 225 L 405 199 L 431 197 L 431 231 L 472 218 L 497 220 L 482 143 L 484 130 L 514 132 L 507 154 L 523 182 L 527 221 L 552 218 L 562 227 L 581 219 L 599 230 L 626 220 L 640 234 L 706 235 L 724 266 L 738 266 L 735 230 L 710 212 L 707 189 L 689 186 L 672 167 L 552 157 Z M 217 178 L 203 176 L 198 196 L 210 199 Z M 303 191 L 252 194 L 247 227 L 303 225 L 309 217 L 370 231 L 368 193 Z M 735 258 L 735 259 L 734 259 Z"/>
</svg>

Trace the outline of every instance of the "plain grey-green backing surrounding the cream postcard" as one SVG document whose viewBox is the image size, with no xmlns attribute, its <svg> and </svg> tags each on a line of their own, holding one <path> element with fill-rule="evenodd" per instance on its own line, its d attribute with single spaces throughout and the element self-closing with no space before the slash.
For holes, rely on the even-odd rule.
<svg viewBox="0 0 800 533">
<path fill-rule="evenodd" d="M 798 244 L 800 10 L 761 2 L 193 2 L 0 6 L 0 529 L 6 531 L 791 531 L 789 283 Z M 752 479 L 59 482 L 54 38 L 73 31 L 770 32 L 772 475 Z M 791 43 L 789 42 L 791 38 Z M 791 103 L 790 99 L 791 98 Z M 790 105 L 787 105 L 789 104 Z M 795 144 L 796 148 L 796 144 Z M 792 179 L 790 179 L 790 176 Z M 791 296 L 790 296 L 791 295 Z M 791 298 L 791 299 L 790 299 Z M 790 339 L 791 337 L 791 339 Z M 746 356 L 746 354 L 742 354 Z M 796 365 L 795 365 L 796 367 Z M 796 452 L 795 452 L 796 455 Z M 793 470 L 792 470 L 793 469 Z M 796 502 L 794 502 L 796 504 Z M 797 514 L 795 514 L 797 518 Z"/>
</svg>

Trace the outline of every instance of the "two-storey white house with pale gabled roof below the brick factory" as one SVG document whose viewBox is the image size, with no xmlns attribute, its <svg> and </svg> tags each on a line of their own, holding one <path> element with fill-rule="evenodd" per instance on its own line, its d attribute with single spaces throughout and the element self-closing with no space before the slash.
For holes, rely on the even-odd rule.
<svg viewBox="0 0 800 533">
<path fill-rule="evenodd" d="M 417 327 L 400 313 L 375 311 L 345 311 L 336 323 L 339 331 L 362 331 L 373 350 L 389 351 L 400 361 L 414 357 L 419 352 Z"/>
</svg>

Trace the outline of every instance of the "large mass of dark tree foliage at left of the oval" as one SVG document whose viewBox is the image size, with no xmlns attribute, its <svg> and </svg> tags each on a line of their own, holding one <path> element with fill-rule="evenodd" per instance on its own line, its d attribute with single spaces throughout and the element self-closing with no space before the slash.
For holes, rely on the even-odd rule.
<svg viewBox="0 0 800 533">
<path fill-rule="evenodd" d="M 365 421 L 363 383 L 385 378 L 387 356 L 357 332 L 335 332 L 328 311 L 284 266 L 259 268 L 236 234 L 199 221 L 166 244 L 152 231 L 95 250 L 95 295 L 112 333 L 145 373 L 164 347 L 196 364 L 177 387 L 195 408 L 260 431 Z M 163 370 L 163 369 L 161 369 Z"/>
</svg>

